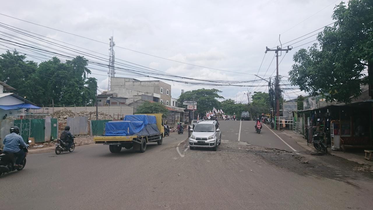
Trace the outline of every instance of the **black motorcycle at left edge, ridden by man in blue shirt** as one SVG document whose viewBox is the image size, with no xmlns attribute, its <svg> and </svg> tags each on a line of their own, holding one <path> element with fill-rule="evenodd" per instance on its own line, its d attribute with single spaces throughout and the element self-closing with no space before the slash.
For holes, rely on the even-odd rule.
<svg viewBox="0 0 373 210">
<path fill-rule="evenodd" d="M 31 142 L 31 140 L 29 140 L 28 142 Z M 25 152 L 25 157 L 23 158 L 20 164 L 21 167 L 15 167 L 16 157 L 14 156 L 13 153 L 0 150 L 0 176 L 3 173 L 12 172 L 15 170 L 20 171 L 25 167 L 28 149 L 21 145 L 19 146 L 19 148 Z"/>
</svg>

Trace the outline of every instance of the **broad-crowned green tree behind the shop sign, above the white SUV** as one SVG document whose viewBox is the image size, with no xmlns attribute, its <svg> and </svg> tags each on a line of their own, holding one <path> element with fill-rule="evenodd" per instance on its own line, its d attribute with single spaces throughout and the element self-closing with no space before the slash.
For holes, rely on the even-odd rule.
<svg viewBox="0 0 373 210">
<path fill-rule="evenodd" d="M 178 102 L 181 104 L 179 107 L 186 108 L 186 105 L 182 105 L 184 101 L 196 101 L 197 102 L 197 112 L 200 116 L 205 116 L 206 111 L 209 111 L 215 107 L 220 108 L 220 102 L 217 99 L 223 99 L 220 96 L 220 90 L 217 89 L 198 89 L 187 91 L 179 96 Z"/>
</svg>

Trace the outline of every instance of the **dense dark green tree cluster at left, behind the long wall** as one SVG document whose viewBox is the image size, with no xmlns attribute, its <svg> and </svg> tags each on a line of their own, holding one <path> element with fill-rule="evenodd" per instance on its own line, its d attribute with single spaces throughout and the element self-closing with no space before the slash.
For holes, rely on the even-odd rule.
<svg viewBox="0 0 373 210">
<path fill-rule="evenodd" d="M 40 65 L 25 61 L 18 52 L 0 55 L 0 81 L 16 88 L 16 93 L 38 105 L 92 105 L 97 91 L 97 80 L 87 77 L 91 71 L 82 56 L 62 63 L 54 57 Z"/>
</svg>

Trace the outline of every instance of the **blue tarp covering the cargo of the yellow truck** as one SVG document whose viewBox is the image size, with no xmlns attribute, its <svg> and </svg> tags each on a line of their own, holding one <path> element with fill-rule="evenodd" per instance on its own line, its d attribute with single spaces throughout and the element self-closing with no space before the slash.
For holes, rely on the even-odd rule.
<svg viewBox="0 0 373 210">
<path fill-rule="evenodd" d="M 126 115 L 124 121 L 110 121 L 105 126 L 105 136 L 159 135 L 155 116 Z"/>
</svg>

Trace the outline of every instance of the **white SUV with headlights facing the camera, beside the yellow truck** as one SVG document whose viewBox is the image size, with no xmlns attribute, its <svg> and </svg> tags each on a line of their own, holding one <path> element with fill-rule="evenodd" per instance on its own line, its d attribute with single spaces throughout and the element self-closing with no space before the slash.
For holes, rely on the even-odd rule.
<svg viewBox="0 0 373 210">
<path fill-rule="evenodd" d="M 189 137 L 189 148 L 205 147 L 213 148 L 216 151 L 217 145 L 220 145 L 222 134 L 219 124 L 214 120 L 200 121 L 191 129 L 192 135 Z"/>
</svg>

